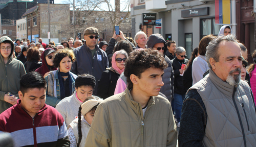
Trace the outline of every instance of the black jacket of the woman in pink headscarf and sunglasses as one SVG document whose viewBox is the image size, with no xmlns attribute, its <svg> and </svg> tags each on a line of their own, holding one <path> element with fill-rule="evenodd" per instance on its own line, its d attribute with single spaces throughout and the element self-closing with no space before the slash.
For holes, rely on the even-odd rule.
<svg viewBox="0 0 256 147">
<path fill-rule="evenodd" d="M 116 89 L 116 82 L 120 74 L 112 70 L 105 70 L 102 72 L 101 78 L 98 81 L 98 96 L 102 99 L 106 99 L 114 95 Z"/>
</svg>

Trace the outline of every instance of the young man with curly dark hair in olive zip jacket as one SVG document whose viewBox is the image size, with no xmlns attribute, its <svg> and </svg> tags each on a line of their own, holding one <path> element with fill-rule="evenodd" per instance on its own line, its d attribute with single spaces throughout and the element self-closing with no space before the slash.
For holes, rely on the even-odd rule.
<svg viewBox="0 0 256 147">
<path fill-rule="evenodd" d="M 158 95 L 166 67 L 157 51 L 130 53 L 124 69 L 128 87 L 98 106 L 85 146 L 176 146 L 172 107 Z"/>
</svg>

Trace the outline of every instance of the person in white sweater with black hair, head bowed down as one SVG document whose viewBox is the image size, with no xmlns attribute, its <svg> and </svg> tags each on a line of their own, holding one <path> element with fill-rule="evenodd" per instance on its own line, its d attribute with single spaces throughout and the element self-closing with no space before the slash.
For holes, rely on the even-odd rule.
<svg viewBox="0 0 256 147">
<path fill-rule="evenodd" d="M 64 118 L 66 126 L 69 126 L 78 117 L 79 107 L 87 97 L 92 96 L 95 85 L 96 80 L 93 76 L 89 74 L 80 75 L 75 80 L 75 92 L 57 104 L 56 109 Z M 97 96 L 94 97 L 97 100 L 99 99 Z"/>
</svg>

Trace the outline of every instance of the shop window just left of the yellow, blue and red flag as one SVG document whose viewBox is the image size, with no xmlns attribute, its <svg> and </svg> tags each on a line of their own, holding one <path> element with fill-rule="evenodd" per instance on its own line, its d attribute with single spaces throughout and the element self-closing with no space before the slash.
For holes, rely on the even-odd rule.
<svg viewBox="0 0 256 147">
<path fill-rule="evenodd" d="M 215 24 L 215 18 L 201 19 L 201 38 L 209 34 L 218 36 L 220 29 L 221 26 Z"/>
</svg>

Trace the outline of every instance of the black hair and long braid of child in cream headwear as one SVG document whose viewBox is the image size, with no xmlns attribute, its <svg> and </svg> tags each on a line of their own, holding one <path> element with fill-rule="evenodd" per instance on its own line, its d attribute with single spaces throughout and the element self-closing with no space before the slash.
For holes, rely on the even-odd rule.
<svg viewBox="0 0 256 147">
<path fill-rule="evenodd" d="M 89 96 L 89 97 L 86 98 L 86 100 L 84 100 L 82 102 L 82 104 L 87 102 L 87 101 L 89 101 L 89 100 L 94 100 L 94 99 L 95 98 L 93 96 Z M 82 104 L 80 105 L 79 110 L 78 110 L 78 141 L 77 141 L 77 145 L 76 146 L 79 146 L 80 143 L 81 143 L 81 140 L 82 140 L 82 127 L 81 127 L 81 119 L 82 119 L 82 117 L 81 117 L 81 115 L 82 115 L 81 114 L 82 107 L 81 106 L 82 106 Z M 97 109 L 98 105 L 94 106 L 89 112 L 92 112 L 92 111 L 95 112 L 95 110 Z"/>
</svg>

